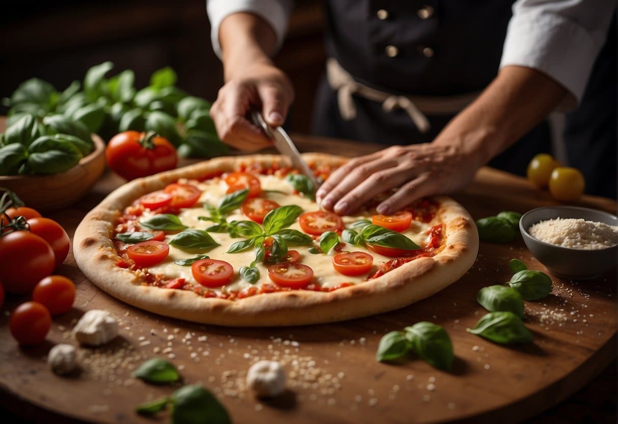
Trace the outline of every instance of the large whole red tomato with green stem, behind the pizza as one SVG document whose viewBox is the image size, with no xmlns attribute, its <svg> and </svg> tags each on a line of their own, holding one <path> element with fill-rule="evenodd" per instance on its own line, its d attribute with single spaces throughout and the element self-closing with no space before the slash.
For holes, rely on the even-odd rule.
<svg viewBox="0 0 618 424">
<path fill-rule="evenodd" d="M 109 140 L 105 157 L 112 171 L 132 180 L 176 167 L 176 149 L 166 138 L 125 131 Z"/>
</svg>

